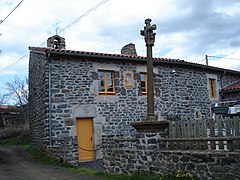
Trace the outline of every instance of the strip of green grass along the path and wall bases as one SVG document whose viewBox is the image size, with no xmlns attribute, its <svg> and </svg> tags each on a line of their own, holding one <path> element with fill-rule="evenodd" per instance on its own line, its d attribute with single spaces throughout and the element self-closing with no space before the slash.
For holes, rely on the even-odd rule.
<svg viewBox="0 0 240 180">
<path fill-rule="evenodd" d="M 19 148 L 24 148 L 28 154 L 30 154 L 33 159 L 35 159 L 38 162 L 44 163 L 44 164 L 53 164 L 57 166 L 61 166 L 62 168 L 77 173 L 77 174 L 84 174 L 89 176 L 97 176 L 101 177 L 105 180 L 197 180 L 199 178 L 196 177 L 190 177 L 187 172 L 178 171 L 176 173 L 167 173 L 163 176 L 151 176 L 151 175 L 141 175 L 139 173 L 135 173 L 132 176 L 127 175 L 112 175 L 112 174 L 106 174 L 103 172 L 99 172 L 92 169 L 86 169 L 86 168 L 80 168 L 77 166 L 73 166 L 69 163 L 59 163 L 56 159 L 53 159 L 49 156 L 46 156 L 38 149 L 32 147 L 28 143 L 28 138 L 25 135 L 21 135 L 18 137 L 12 137 L 12 138 L 5 138 L 0 139 L 0 145 L 4 146 L 18 146 Z"/>
</svg>

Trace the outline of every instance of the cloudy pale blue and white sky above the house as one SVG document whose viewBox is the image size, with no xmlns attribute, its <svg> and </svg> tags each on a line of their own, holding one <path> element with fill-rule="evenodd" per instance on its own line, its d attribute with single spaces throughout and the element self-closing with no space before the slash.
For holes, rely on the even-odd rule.
<svg viewBox="0 0 240 180">
<path fill-rule="evenodd" d="M 65 38 L 66 49 L 118 54 L 134 43 L 138 55 L 145 56 L 139 32 L 146 18 L 157 25 L 154 57 L 205 64 L 207 54 L 224 57 L 209 58 L 211 66 L 240 70 L 239 0 L 105 1 L 84 15 L 102 0 L 23 0 L 0 24 L 1 92 L 15 75 L 27 76 L 28 47 L 40 46 L 56 30 Z M 0 0 L 0 20 L 20 2 Z"/>
</svg>

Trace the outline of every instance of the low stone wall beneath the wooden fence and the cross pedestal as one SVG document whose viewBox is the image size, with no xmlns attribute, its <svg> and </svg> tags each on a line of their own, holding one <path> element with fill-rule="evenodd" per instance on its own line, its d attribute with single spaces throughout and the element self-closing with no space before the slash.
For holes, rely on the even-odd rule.
<svg viewBox="0 0 240 180">
<path fill-rule="evenodd" d="M 164 175 L 178 170 L 201 179 L 239 179 L 240 152 L 166 150 L 158 133 L 138 133 L 135 138 L 105 135 L 103 162 L 107 173 Z"/>
</svg>

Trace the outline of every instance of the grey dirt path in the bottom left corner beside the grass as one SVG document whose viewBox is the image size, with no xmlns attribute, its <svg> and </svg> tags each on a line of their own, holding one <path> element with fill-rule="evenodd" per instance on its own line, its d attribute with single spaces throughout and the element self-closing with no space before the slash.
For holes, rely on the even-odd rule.
<svg viewBox="0 0 240 180">
<path fill-rule="evenodd" d="M 0 146 L 0 180 L 94 180 L 97 177 L 74 174 L 61 167 L 40 164 L 24 151 Z"/>
</svg>

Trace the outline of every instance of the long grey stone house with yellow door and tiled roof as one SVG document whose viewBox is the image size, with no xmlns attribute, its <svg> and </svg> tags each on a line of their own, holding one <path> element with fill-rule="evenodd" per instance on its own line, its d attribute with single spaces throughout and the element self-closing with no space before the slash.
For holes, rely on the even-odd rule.
<svg viewBox="0 0 240 180">
<path fill-rule="evenodd" d="M 146 57 L 133 44 L 121 54 L 65 49 L 55 35 L 48 47 L 29 47 L 32 144 L 76 164 L 102 158 L 102 135 L 136 133 L 146 118 Z M 158 120 L 208 118 L 220 92 L 240 72 L 179 59 L 154 58 Z M 224 95 L 224 93 L 223 93 Z"/>
</svg>

